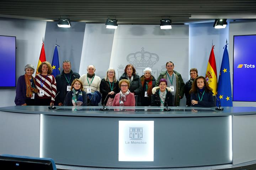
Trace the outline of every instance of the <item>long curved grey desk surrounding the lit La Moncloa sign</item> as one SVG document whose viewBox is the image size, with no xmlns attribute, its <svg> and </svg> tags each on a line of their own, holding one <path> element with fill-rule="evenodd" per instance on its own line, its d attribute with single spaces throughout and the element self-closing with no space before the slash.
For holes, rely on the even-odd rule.
<svg viewBox="0 0 256 170">
<path fill-rule="evenodd" d="M 161 112 L 159 107 L 124 107 L 138 109 L 126 112 L 72 108 L 0 108 L 0 154 L 40 155 L 56 164 L 110 168 L 235 165 L 256 160 L 255 107 L 225 107 L 219 112 L 214 108 L 192 112 L 190 107 L 171 107 L 171 112 Z M 154 121 L 153 162 L 118 161 L 119 120 Z"/>
</svg>

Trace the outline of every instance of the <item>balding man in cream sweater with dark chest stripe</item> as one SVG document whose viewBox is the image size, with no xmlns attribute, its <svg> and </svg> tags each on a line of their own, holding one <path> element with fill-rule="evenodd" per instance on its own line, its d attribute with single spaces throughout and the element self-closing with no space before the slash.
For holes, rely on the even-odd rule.
<svg viewBox="0 0 256 170">
<path fill-rule="evenodd" d="M 93 65 L 90 65 L 87 67 L 87 74 L 83 74 L 80 77 L 80 80 L 82 81 L 84 85 L 84 91 L 87 93 L 87 96 L 90 97 L 92 93 L 98 91 L 100 92 L 100 82 L 101 78 L 95 75 L 96 68 Z M 95 95 L 100 94 L 100 93 L 95 93 Z M 96 97 L 96 103 L 98 101 L 98 97 L 101 99 L 101 95 Z M 90 103 L 91 100 L 88 98 L 87 103 Z M 99 101 L 100 102 L 100 101 Z M 98 102 L 98 103 L 99 103 Z M 94 102 L 95 103 L 95 102 Z M 92 102 L 90 103 L 91 106 L 98 106 L 98 104 L 93 104 Z"/>
</svg>

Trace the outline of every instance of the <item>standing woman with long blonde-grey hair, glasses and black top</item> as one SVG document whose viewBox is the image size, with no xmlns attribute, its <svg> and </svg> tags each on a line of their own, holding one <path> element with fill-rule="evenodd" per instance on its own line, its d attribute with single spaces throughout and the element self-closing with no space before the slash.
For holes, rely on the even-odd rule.
<svg viewBox="0 0 256 170">
<path fill-rule="evenodd" d="M 118 87 L 118 80 L 116 79 L 116 72 L 112 67 L 110 67 L 107 70 L 106 77 L 103 78 L 100 83 L 100 92 L 102 93 L 101 104 L 106 105 L 108 98 L 111 98 L 113 101 L 114 96 L 116 96 L 116 94 L 119 91 L 120 90 Z M 105 100 L 105 103 L 104 103 L 104 100 Z"/>
</svg>

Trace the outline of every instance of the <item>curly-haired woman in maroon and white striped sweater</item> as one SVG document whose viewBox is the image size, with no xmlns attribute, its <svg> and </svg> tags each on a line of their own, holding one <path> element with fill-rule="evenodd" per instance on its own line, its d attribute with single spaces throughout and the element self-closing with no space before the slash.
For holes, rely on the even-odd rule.
<svg viewBox="0 0 256 170">
<path fill-rule="evenodd" d="M 56 95 L 56 81 L 52 75 L 52 66 L 48 61 L 42 62 L 36 75 L 37 106 L 53 106 Z"/>
</svg>

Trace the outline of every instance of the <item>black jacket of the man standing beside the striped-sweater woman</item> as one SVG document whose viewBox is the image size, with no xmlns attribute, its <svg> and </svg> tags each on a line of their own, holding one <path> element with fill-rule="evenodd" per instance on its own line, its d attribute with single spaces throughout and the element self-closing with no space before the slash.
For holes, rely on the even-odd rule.
<svg viewBox="0 0 256 170">
<path fill-rule="evenodd" d="M 71 77 L 70 77 L 69 83 L 71 85 L 74 79 L 80 78 L 80 75 L 78 73 L 74 73 L 72 70 L 70 70 L 70 74 L 71 74 Z M 64 104 L 66 94 L 68 93 L 68 91 L 66 91 L 66 88 L 69 84 L 65 78 L 64 71 L 62 71 L 61 74 L 57 75 L 55 79 L 57 83 L 57 93 L 60 92 L 58 96 L 55 97 L 55 105 L 58 106 L 60 102 Z"/>
</svg>

